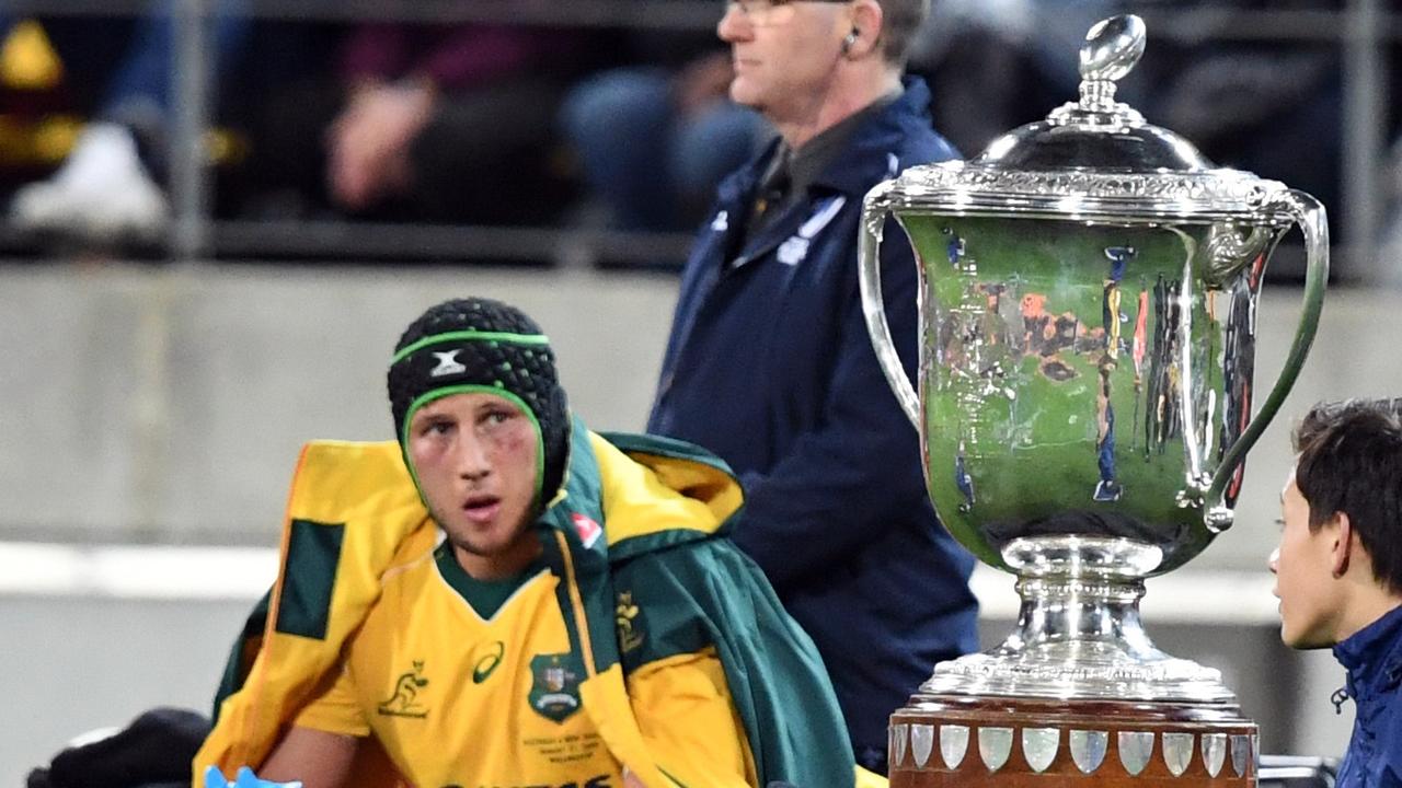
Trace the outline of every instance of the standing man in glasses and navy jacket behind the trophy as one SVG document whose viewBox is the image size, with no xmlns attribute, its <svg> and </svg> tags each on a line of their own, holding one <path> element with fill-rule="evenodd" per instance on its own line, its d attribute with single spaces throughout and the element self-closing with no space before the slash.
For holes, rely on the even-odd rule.
<svg viewBox="0 0 1402 788">
<path fill-rule="evenodd" d="M 903 79 L 928 0 L 732 0 L 730 97 L 780 130 L 719 188 L 681 280 L 649 430 L 694 440 L 746 485 L 735 541 L 823 655 L 857 760 L 935 662 L 977 646 L 973 558 L 939 526 L 916 430 L 862 320 L 862 196 L 953 158 Z M 918 276 L 889 223 L 882 282 L 907 373 Z"/>
</svg>

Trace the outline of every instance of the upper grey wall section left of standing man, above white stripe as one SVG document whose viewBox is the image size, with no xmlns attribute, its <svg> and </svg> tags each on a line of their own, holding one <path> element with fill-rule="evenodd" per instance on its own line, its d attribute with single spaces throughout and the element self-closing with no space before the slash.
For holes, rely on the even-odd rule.
<svg viewBox="0 0 1402 788">
<path fill-rule="evenodd" d="M 0 534 L 271 543 L 300 446 L 393 437 L 384 373 L 423 308 L 509 300 L 578 412 L 641 429 L 667 278 L 394 269 L 0 273 Z"/>
</svg>

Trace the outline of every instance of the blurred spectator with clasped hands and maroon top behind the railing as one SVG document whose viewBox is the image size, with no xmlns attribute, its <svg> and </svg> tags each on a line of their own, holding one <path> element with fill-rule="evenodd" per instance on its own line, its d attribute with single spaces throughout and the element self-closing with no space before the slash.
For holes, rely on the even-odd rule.
<svg viewBox="0 0 1402 788">
<path fill-rule="evenodd" d="M 255 213 L 517 223 L 569 188 L 552 132 L 585 34 L 362 24 L 329 72 L 273 86 L 254 128 Z"/>
</svg>

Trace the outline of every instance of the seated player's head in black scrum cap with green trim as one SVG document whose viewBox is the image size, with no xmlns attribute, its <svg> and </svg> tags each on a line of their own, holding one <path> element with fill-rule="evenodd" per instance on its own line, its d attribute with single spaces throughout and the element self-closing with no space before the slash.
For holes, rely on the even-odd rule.
<svg viewBox="0 0 1402 788">
<path fill-rule="evenodd" d="M 565 393 L 540 327 L 488 299 L 437 304 L 400 337 L 388 388 L 404 461 L 458 561 L 477 576 L 522 569 L 569 461 Z"/>
</svg>

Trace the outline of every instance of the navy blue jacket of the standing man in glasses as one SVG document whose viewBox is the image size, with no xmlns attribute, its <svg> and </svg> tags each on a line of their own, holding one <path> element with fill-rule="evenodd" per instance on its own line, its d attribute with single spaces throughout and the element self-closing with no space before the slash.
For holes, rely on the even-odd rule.
<svg viewBox="0 0 1402 788">
<path fill-rule="evenodd" d="M 935 662 L 977 648 L 973 558 L 939 524 L 916 429 L 862 320 L 862 198 L 913 164 L 956 156 L 930 125 L 930 91 L 866 119 L 798 201 L 740 248 L 777 150 L 726 178 L 687 261 L 649 432 L 705 446 L 736 470 L 735 541 L 813 637 L 858 761 L 880 764 L 886 722 Z M 892 220 L 882 283 L 907 374 L 918 276 Z"/>
</svg>

